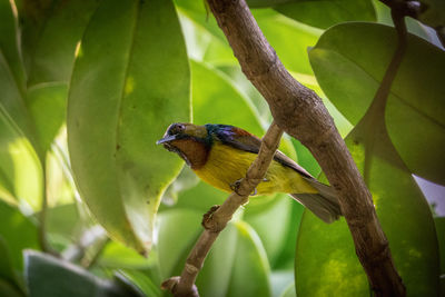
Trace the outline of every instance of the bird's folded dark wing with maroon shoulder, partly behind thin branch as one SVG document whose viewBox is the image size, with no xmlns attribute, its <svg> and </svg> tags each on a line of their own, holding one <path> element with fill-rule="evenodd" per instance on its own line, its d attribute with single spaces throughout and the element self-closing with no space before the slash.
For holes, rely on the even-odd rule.
<svg viewBox="0 0 445 297">
<path fill-rule="evenodd" d="M 234 126 L 220 125 L 218 129 L 214 131 L 217 138 L 227 146 L 237 148 L 244 151 L 249 151 L 258 154 L 261 146 L 261 139 L 258 137 Z M 309 172 L 307 172 L 301 166 L 296 164 L 293 159 L 284 155 L 281 151 L 277 150 L 274 156 L 274 160 L 281 164 L 283 166 L 289 167 L 305 176 L 309 179 L 314 178 Z"/>
</svg>

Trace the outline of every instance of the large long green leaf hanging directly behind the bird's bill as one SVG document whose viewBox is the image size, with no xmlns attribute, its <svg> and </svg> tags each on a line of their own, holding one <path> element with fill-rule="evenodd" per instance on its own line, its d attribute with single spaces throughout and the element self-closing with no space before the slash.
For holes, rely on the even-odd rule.
<svg viewBox="0 0 445 297">
<path fill-rule="evenodd" d="M 156 140 L 189 116 L 189 69 L 174 6 L 103 1 L 76 60 L 68 143 L 91 212 L 139 251 L 150 249 L 159 197 L 182 165 Z"/>
</svg>

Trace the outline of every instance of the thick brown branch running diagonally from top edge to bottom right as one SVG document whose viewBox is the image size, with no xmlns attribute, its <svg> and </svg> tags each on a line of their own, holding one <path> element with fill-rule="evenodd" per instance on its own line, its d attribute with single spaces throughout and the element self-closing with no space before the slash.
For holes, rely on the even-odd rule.
<svg viewBox="0 0 445 297">
<path fill-rule="evenodd" d="M 244 0 L 208 3 L 243 72 L 268 102 L 277 125 L 310 150 L 336 189 L 356 254 L 376 295 L 405 295 L 370 192 L 322 99 L 285 69 Z"/>
</svg>

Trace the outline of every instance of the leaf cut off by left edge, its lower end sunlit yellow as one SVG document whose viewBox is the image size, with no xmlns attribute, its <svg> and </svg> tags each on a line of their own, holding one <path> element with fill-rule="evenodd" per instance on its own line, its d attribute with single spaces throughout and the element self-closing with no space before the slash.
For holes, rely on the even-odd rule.
<svg viewBox="0 0 445 297">
<path fill-rule="evenodd" d="M 39 205 L 41 168 L 39 148 L 24 105 L 23 91 L 18 87 L 11 69 L 0 51 L 0 189 L 2 196 L 24 198 L 32 207 Z M 27 139 L 28 138 L 28 139 Z M 31 146 L 33 145 L 33 146 Z M 37 145 L 37 148 L 36 148 Z M 34 151 L 36 149 L 36 151 Z M 22 187 L 22 182 L 29 182 Z"/>
</svg>

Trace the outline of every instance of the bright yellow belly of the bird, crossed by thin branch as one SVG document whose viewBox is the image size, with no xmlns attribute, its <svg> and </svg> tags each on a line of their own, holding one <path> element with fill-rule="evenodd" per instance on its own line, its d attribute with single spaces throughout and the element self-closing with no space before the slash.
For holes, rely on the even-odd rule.
<svg viewBox="0 0 445 297">
<path fill-rule="evenodd" d="M 211 148 L 206 165 L 194 171 L 211 186 L 231 192 L 230 185 L 246 176 L 247 169 L 256 157 L 256 154 L 216 143 Z M 266 180 L 257 187 L 257 195 L 318 192 L 294 169 L 275 160 L 271 161 L 265 178 Z"/>
</svg>

